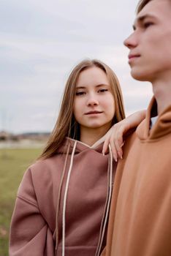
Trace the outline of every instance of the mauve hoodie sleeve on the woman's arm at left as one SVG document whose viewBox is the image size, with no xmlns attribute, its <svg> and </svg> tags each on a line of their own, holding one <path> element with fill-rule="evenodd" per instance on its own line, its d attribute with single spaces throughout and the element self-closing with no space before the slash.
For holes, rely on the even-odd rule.
<svg viewBox="0 0 171 256">
<path fill-rule="evenodd" d="M 53 235 L 39 211 L 30 169 L 18 189 L 9 238 L 9 256 L 23 255 L 54 255 Z"/>
</svg>

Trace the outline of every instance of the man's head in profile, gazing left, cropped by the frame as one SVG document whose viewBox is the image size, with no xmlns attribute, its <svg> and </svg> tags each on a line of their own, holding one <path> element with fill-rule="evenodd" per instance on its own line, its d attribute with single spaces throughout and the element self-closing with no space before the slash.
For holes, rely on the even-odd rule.
<svg viewBox="0 0 171 256">
<path fill-rule="evenodd" d="M 141 0 L 134 32 L 125 40 L 132 77 L 171 80 L 171 0 Z"/>
</svg>

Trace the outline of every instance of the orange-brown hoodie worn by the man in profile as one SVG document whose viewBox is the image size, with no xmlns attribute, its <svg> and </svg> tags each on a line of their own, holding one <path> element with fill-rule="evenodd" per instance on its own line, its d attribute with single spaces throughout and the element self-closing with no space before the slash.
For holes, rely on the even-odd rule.
<svg viewBox="0 0 171 256">
<path fill-rule="evenodd" d="M 150 130 L 154 105 L 123 148 L 102 255 L 171 255 L 171 105 Z"/>
</svg>

